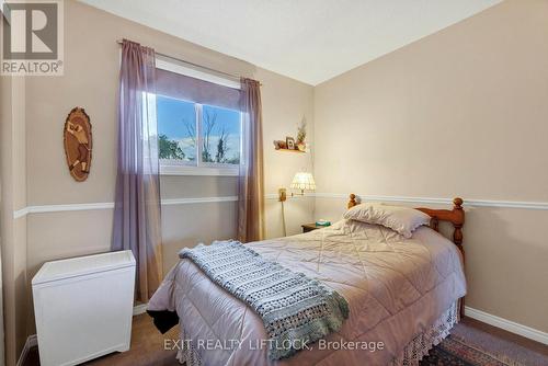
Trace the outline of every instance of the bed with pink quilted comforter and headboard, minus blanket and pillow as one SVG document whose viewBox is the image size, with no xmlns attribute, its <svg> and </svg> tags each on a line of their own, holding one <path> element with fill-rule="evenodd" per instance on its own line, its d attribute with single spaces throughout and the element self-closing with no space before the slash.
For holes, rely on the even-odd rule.
<svg viewBox="0 0 548 366">
<path fill-rule="evenodd" d="M 357 204 L 351 195 L 349 208 Z M 149 302 L 149 313 L 176 312 L 178 357 L 191 365 L 416 365 L 448 335 L 466 295 L 463 199 L 404 239 L 386 227 L 341 220 L 307 233 L 248 243 L 265 259 L 335 289 L 347 301 L 342 328 L 294 356 L 271 361 L 259 316 L 181 260 Z M 439 221 L 454 227 L 452 240 Z"/>
</svg>

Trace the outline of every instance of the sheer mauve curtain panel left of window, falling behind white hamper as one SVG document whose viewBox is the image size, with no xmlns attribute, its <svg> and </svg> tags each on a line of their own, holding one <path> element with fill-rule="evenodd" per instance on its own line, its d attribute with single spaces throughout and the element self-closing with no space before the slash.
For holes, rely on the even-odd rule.
<svg viewBox="0 0 548 366">
<path fill-rule="evenodd" d="M 112 249 L 133 251 L 144 302 L 162 278 L 155 72 L 155 50 L 124 39 Z"/>
</svg>

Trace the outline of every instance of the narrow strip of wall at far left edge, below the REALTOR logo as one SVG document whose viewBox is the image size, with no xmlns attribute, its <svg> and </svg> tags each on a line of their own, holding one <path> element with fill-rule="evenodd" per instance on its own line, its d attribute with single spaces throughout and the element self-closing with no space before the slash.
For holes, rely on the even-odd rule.
<svg viewBox="0 0 548 366">
<path fill-rule="evenodd" d="M 1 260 L 4 352 L 15 365 L 27 336 L 25 78 L 0 77 L 1 87 Z"/>
</svg>

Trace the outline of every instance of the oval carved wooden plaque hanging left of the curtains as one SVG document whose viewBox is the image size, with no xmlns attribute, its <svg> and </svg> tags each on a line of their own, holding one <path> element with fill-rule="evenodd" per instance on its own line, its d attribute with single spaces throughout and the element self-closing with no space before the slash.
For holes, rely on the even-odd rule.
<svg viewBox="0 0 548 366">
<path fill-rule="evenodd" d="M 93 147 L 90 116 L 83 108 L 77 106 L 70 111 L 62 136 L 70 175 L 76 181 L 83 182 L 90 174 Z"/>
</svg>

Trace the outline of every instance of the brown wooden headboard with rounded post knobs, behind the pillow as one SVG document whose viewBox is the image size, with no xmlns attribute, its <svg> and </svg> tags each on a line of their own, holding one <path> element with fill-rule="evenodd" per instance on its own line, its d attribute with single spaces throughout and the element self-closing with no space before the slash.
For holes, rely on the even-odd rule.
<svg viewBox="0 0 548 366">
<path fill-rule="evenodd" d="M 358 203 L 356 201 L 356 195 L 351 194 L 347 207 L 354 207 Z M 463 253 L 463 259 L 465 258 L 465 250 L 463 249 L 463 226 L 465 225 L 465 210 L 463 209 L 463 198 L 456 197 L 453 199 L 453 209 L 433 209 L 418 207 L 416 209 L 423 211 L 432 217 L 430 221 L 430 227 L 436 231 L 439 231 L 439 221 L 450 222 L 454 227 L 453 231 L 453 242 L 458 247 Z"/>
</svg>

